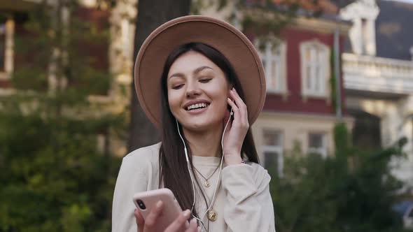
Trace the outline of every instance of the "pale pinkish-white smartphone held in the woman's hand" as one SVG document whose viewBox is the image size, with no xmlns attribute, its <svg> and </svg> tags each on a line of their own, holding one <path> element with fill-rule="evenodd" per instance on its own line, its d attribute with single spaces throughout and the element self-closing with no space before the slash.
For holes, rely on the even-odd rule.
<svg viewBox="0 0 413 232">
<path fill-rule="evenodd" d="M 181 206 L 178 201 L 176 201 L 174 194 L 167 188 L 134 194 L 133 201 L 144 219 L 146 219 L 151 210 L 156 207 L 156 203 L 162 201 L 164 205 L 162 213 L 158 217 L 155 231 L 165 231 L 165 229 L 174 222 L 176 217 L 182 213 Z"/>
</svg>

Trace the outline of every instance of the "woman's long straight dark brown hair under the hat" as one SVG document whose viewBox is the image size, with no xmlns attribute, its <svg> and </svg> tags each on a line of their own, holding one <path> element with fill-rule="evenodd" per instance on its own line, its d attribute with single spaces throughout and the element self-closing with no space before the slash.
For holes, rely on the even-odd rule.
<svg viewBox="0 0 413 232">
<path fill-rule="evenodd" d="M 190 175 L 188 171 L 188 166 L 186 163 L 185 152 L 183 150 L 183 143 L 179 137 L 178 129 L 176 128 L 176 119 L 172 115 L 171 110 L 169 109 L 168 104 L 168 90 L 167 90 L 167 75 L 169 73 L 169 68 L 178 57 L 185 54 L 186 52 L 194 51 L 199 52 L 208 59 L 210 59 L 216 66 L 221 68 L 223 73 L 225 73 L 225 78 L 228 82 L 231 83 L 237 93 L 241 96 L 241 99 L 244 100 L 244 92 L 242 90 L 241 84 L 238 80 L 237 74 L 232 68 L 230 61 L 226 59 L 221 52 L 211 48 L 209 45 L 203 43 L 187 43 L 176 48 L 165 62 L 165 66 L 162 73 L 162 79 L 160 82 L 160 88 L 162 89 L 162 98 L 161 98 L 161 108 L 162 108 L 162 145 L 160 147 L 159 158 L 160 158 L 160 181 L 163 180 L 164 186 L 171 189 L 174 192 L 176 200 L 181 205 L 183 210 L 190 209 L 193 205 L 193 189 L 191 186 Z M 182 131 L 181 126 L 179 129 Z M 185 135 L 181 133 L 183 140 L 187 140 Z M 187 143 L 188 144 L 188 143 Z M 192 170 L 193 162 L 190 152 L 190 147 L 188 148 L 188 158 L 190 161 L 190 167 Z M 259 163 L 258 154 L 255 149 L 255 144 L 253 141 L 253 136 L 251 133 L 251 128 L 248 129 L 246 133 L 244 143 L 242 144 L 241 154 L 245 155 L 248 161 Z M 196 180 L 196 178 L 195 178 Z M 196 181 L 198 187 L 200 186 L 199 182 Z M 206 198 L 204 194 L 204 201 Z M 197 212 L 194 208 L 194 215 L 197 216 Z"/>
</svg>

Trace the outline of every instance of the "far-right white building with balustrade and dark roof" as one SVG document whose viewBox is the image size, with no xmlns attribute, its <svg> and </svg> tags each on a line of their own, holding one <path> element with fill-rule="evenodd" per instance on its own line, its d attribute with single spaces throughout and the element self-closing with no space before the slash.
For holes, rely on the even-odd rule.
<svg viewBox="0 0 413 232">
<path fill-rule="evenodd" d="M 355 1 L 340 10 L 353 22 L 342 55 L 353 143 L 374 150 L 407 138 L 393 173 L 413 184 L 413 4 Z"/>
</svg>

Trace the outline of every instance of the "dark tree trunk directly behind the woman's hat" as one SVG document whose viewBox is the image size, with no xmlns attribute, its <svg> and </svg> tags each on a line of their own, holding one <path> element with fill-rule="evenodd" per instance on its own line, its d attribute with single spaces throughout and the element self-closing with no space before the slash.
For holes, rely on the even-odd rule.
<svg viewBox="0 0 413 232">
<path fill-rule="evenodd" d="M 188 15 L 190 0 L 139 0 L 138 17 L 136 22 L 134 41 L 134 60 L 142 43 L 151 32 L 160 24 Z M 155 126 L 144 114 L 132 83 L 131 93 L 131 122 L 128 151 L 131 152 L 139 147 L 151 145 L 158 141 L 159 133 Z"/>
</svg>

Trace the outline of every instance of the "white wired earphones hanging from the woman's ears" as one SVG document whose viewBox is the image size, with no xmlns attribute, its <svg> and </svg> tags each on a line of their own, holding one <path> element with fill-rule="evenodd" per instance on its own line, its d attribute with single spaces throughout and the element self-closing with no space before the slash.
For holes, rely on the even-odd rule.
<svg viewBox="0 0 413 232">
<path fill-rule="evenodd" d="M 181 136 L 181 131 L 179 130 L 179 124 L 178 124 L 178 120 L 175 119 L 176 121 L 176 127 L 178 129 L 178 133 L 179 133 L 179 137 L 181 137 L 182 143 L 183 143 L 183 150 L 185 152 L 185 158 L 186 158 L 186 164 L 188 166 L 188 172 L 190 175 L 190 181 L 193 187 L 193 205 L 190 209 L 190 214 L 193 216 L 193 218 L 195 218 L 198 222 L 200 222 L 200 224 L 202 225 L 202 230 L 201 231 L 208 231 L 208 229 L 205 227 L 204 222 L 202 222 L 202 219 L 204 219 L 204 217 L 207 215 L 207 213 L 209 212 L 209 210 L 211 210 L 212 205 L 214 205 L 215 202 L 215 198 L 216 198 L 216 191 L 218 190 L 218 182 L 219 182 L 219 178 L 221 177 L 221 171 L 223 169 L 223 159 L 224 159 L 224 135 L 225 135 L 225 131 L 227 130 L 227 126 L 230 123 L 231 117 L 234 115 L 234 112 L 230 111 L 230 117 L 228 118 L 227 123 L 225 124 L 224 130 L 223 130 L 223 135 L 221 136 L 221 150 L 223 152 L 222 156 L 221 156 L 221 162 L 220 162 L 220 167 L 219 167 L 219 171 L 218 171 L 218 180 L 216 181 L 215 184 L 215 189 L 214 189 L 214 196 L 212 197 L 211 203 L 209 203 L 209 207 L 207 208 L 207 211 L 204 212 L 204 215 L 202 215 L 202 217 L 195 217 L 195 215 L 193 214 L 193 209 L 195 208 L 195 201 L 196 201 L 196 194 L 195 194 L 195 184 L 194 184 L 194 177 L 193 177 L 193 170 L 191 170 L 190 168 L 190 163 L 189 163 L 189 157 L 188 157 L 188 150 L 186 149 L 186 143 L 185 140 L 183 140 L 182 136 Z"/>
</svg>

